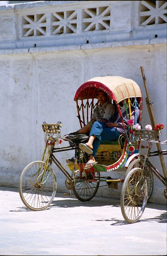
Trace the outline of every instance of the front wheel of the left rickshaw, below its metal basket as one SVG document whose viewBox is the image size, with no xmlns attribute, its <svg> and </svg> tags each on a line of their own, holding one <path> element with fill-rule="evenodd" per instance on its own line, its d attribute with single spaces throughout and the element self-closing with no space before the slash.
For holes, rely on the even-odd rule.
<svg viewBox="0 0 167 256">
<path fill-rule="evenodd" d="M 56 194 L 54 171 L 48 166 L 44 174 L 44 165 L 43 161 L 29 163 L 20 175 L 20 198 L 26 207 L 34 211 L 46 209 Z"/>
</svg>

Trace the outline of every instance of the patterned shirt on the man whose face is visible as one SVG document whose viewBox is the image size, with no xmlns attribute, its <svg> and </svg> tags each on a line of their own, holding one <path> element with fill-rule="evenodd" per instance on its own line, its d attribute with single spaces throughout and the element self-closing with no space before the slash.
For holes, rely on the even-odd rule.
<svg viewBox="0 0 167 256">
<path fill-rule="evenodd" d="M 110 102 L 105 102 L 102 106 L 99 104 L 94 110 L 93 115 L 91 117 L 92 119 L 95 119 L 96 121 L 102 122 L 103 119 L 110 120 L 111 116 L 113 116 L 114 113 L 114 105 Z"/>
</svg>

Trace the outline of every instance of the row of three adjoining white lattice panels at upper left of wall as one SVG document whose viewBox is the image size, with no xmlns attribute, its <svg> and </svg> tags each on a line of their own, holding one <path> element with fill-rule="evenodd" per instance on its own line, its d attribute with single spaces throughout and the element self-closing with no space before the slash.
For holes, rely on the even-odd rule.
<svg viewBox="0 0 167 256">
<path fill-rule="evenodd" d="M 78 13 L 79 12 L 79 13 Z M 24 15 L 22 17 L 23 36 L 71 34 L 110 29 L 110 6 L 101 6 L 80 10 L 51 12 L 50 14 Z M 82 24 L 78 26 L 78 24 Z"/>
</svg>

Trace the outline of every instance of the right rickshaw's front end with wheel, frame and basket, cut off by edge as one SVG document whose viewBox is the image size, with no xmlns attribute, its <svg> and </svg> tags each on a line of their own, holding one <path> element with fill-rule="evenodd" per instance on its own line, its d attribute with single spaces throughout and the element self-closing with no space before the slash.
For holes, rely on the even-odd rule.
<svg viewBox="0 0 167 256">
<path fill-rule="evenodd" d="M 153 191 L 153 173 L 164 184 L 164 197 L 167 198 L 166 174 L 163 171 L 164 176 L 161 175 L 159 170 L 149 161 L 150 156 L 167 154 L 167 150 L 151 152 L 153 142 L 164 144 L 167 141 L 159 141 L 158 131 L 138 130 L 135 131 L 135 135 L 140 145 L 139 156 L 129 166 L 121 192 L 121 211 L 128 223 L 135 223 L 141 218 Z M 143 145 L 142 142 L 147 143 L 147 145 Z M 144 154 L 142 148 L 147 149 Z"/>
</svg>

